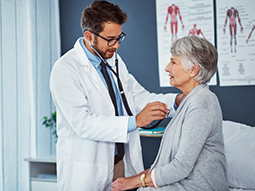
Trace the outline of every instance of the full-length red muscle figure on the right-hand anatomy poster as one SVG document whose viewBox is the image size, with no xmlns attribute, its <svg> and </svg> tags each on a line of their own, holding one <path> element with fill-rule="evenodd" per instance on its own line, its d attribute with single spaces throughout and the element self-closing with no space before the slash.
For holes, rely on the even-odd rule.
<svg viewBox="0 0 255 191">
<path fill-rule="evenodd" d="M 226 15 L 226 19 L 225 19 L 225 24 L 224 24 L 224 28 L 223 28 L 223 32 L 226 32 L 226 25 L 227 22 L 229 20 L 229 32 L 230 32 L 230 47 L 231 47 L 231 52 L 233 52 L 233 41 L 234 41 L 234 52 L 236 52 L 236 44 L 237 44 L 237 40 L 236 40 L 236 19 L 238 19 L 238 22 L 241 26 L 241 32 L 243 31 L 243 27 L 241 24 L 241 19 L 239 17 L 239 13 L 238 10 L 235 9 L 234 7 L 231 7 L 230 9 L 227 10 L 227 15 Z"/>
</svg>

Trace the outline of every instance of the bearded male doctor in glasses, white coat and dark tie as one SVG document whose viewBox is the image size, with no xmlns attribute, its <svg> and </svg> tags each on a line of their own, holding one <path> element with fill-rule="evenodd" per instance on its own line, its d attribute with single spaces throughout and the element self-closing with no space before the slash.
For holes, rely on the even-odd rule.
<svg viewBox="0 0 255 191">
<path fill-rule="evenodd" d="M 116 178 L 143 171 L 137 128 L 163 119 L 181 101 L 182 95 L 149 93 L 128 72 L 116 54 L 126 21 L 117 5 L 94 1 L 82 13 L 84 37 L 54 64 L 50 90 L 57 109 L 58 191 L 108 191 Z M 119 74 L 133 116 L 123 105 L 116 76 L 106 67 L 114 106 L 102 60 Z M 124 145 L 124 156 L 115 143 Z"/>
</svg>

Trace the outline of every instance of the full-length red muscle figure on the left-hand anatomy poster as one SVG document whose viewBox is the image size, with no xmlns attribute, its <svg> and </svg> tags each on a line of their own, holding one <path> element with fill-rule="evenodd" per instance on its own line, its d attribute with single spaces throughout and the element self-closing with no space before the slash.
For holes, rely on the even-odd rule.
<svg viewBox="0 0 255 191">
<path fill-rule="evenodd" d="M 177 16 L 178 15 L 179 15 L 179 19 L 182 23 L 182 28 L 184 28 L 184 25 L 183 25 L 183 22 L 182 22 L 182 17 L 181 17 L 179 7 L 176 6 L 175 4 L 172 4 L 167 9 L 166 22 L 165 22 L 165 26 L 164 26 L 165 30 L 166 30 L 166 25 L 167 25 L 169 15 L 170 15 L 170 28 L 171 28 L 172 41 L 173 41 L 173 40 L 177 39 L 177 32 L 178 32 Z"/>
</svg>

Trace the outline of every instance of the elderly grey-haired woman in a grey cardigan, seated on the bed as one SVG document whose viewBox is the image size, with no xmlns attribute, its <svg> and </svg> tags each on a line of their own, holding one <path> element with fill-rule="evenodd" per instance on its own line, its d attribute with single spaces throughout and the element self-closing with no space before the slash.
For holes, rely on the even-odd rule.
<svg viewBox="0 0 255 191">
<path fill-rule="evenodd" d="M 207 40 L 187 36 L 173 43 L 171 53 L 165 70 L 170 84 L 185 97 L 166 127 L 151 168 L 117 179 L 113 191 L 229 190 L 221 108 L 207 85 L 217 70 L 217 51 Z"/>
</svg>

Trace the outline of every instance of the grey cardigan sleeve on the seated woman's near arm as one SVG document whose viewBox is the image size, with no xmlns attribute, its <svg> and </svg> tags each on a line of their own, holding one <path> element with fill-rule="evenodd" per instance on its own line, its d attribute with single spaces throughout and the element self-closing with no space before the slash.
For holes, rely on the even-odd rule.
<svg viewBox="0 0 255 191">
<path fill-rule="evenodd" d="M 188 112 L 182 124 L 178 150 L 174 158 L 155 170 L 158 186 L 181 181 L 190 175 L 212 130 L 213 117 L 202 108 Z"/>
</svg>

